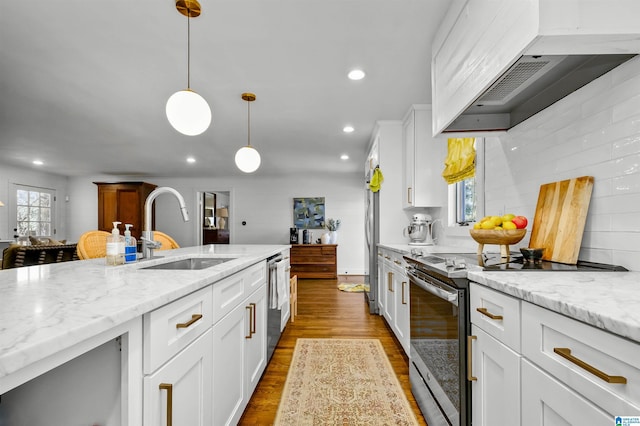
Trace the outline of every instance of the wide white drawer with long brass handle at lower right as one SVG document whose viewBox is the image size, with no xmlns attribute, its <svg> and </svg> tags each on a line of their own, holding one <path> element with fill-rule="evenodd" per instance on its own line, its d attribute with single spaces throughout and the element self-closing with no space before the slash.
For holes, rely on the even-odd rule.
<svg viewBox="0 0 640 426">
<path fill-rule="evenodd" d="M 526 302 L 522 335 L 522 354 L 568 387 L 611 415 L 640 413 L 640 344 Z"/>
</svg>

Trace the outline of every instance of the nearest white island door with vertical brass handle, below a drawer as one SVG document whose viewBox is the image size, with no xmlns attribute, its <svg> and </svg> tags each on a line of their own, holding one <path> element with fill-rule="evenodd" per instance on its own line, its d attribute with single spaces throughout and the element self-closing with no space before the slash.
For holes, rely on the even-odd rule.
<svg viewBox="0 0 640 426">
<path fill-rule="evenodd" d="M 213 424 L 209 329 L 155 373 L 144 378 L 144 424 Z"/>
</svg>

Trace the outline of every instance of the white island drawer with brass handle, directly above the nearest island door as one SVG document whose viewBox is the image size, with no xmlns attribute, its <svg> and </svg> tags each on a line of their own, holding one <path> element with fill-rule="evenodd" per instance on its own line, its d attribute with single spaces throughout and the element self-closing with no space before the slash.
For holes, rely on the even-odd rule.
<svg viewBox="0 0 640 426">
<path fill-rule="evenodd" d="M 211 286 L 144 314 L 144 372 L 150 374 L 213 325 Z"/>
</svg>

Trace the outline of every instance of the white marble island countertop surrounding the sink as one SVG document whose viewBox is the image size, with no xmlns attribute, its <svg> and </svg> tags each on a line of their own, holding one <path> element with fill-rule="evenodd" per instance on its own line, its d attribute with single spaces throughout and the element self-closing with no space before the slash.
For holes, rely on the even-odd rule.
<svg viewBox="0 0 640 426">
<path fill-rule="evenodd" d="M 0 270 L 0 380 L 289 247 L 206 245 L 120 266 L 92 259 Z M 208 256 L 234 260 L 195 271 L 140 269 Z"/>
</svg>

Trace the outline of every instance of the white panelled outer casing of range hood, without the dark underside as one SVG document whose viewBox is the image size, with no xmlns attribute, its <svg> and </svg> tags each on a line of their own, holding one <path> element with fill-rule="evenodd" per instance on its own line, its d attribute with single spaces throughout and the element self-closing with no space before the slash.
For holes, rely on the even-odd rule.
<svg viewBox="0 0 640 426">
<path fill-rule="evenodd" d="M 640 5 L 625 0 L 452 2 L 432 45 L 433 134 L 522 55 L 637 53 L 638 13 Z M 498 121 L 484 128 L 505 128 L 500 114 L 471 121 L 487 116 Z"/>
</svg>

